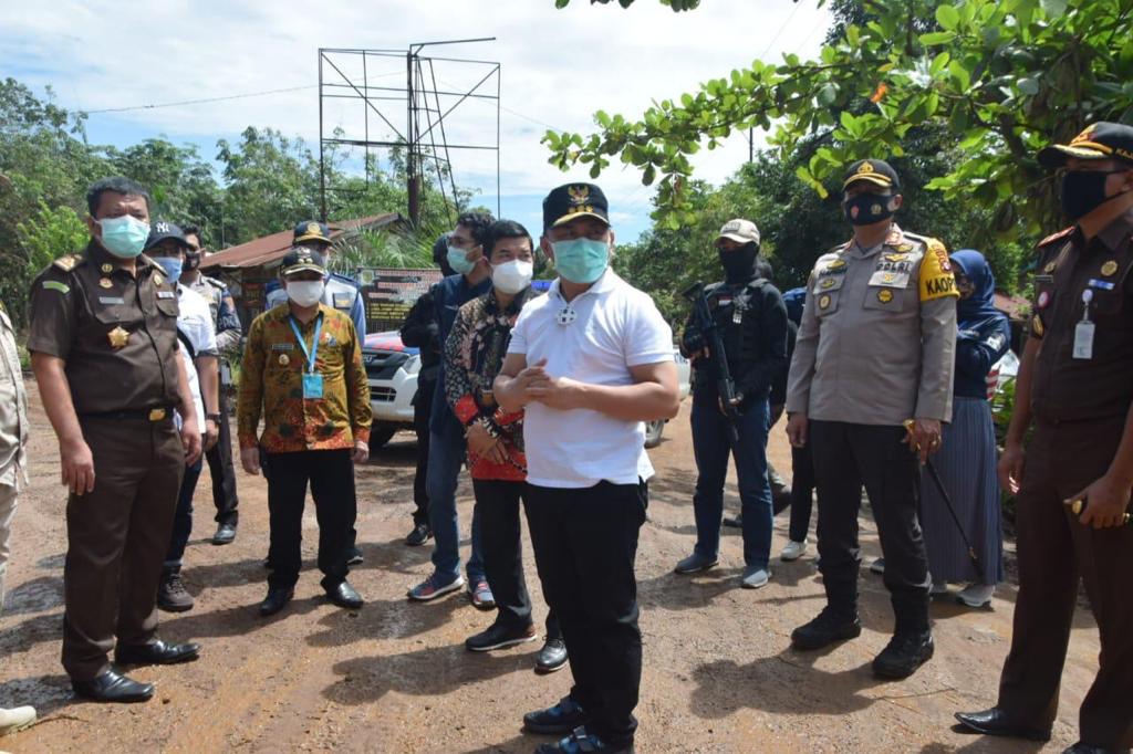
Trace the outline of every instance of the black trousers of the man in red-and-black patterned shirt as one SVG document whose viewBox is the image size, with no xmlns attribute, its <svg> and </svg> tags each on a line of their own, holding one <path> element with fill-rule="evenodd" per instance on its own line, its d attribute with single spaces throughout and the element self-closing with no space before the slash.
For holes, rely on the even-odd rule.
<svg viewBox="0 0 1133 754">
<path fill-rule="evenodd" d="M 523 579 L 519 504 L 527 483 L 499 479 L 474 479 L 484 575 L 496 601 L 496 622 L 509 628 L 531 625 L 531 598 Z M 525 503 L 525 507 L 526 503 Z M 547 639 L 562 639 L 554 608 L 547 614 Z"/>
</svg>

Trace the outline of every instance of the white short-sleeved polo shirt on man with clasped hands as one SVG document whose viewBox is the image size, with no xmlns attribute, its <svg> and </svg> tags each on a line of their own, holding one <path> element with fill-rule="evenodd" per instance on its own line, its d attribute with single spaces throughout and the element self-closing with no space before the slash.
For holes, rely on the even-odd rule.
<svg viewBox="0 0 1133 754">
<path fill-rule="evenodd" d="M 511 331 L 508 352 L 526 354 L 528 366 L 546 359 L 552 377 L 632 385 L 630 367 L 673 360 L 673 332 L 648 294 L 606 269 L 570 303 L 559 281 L 546 295 L 529 301 Z M 645 423 L 591 409 L 559 411 L 529 403 L 523 445 L 527 481 L 540 487 L 585 488 L 603 480 L 636 485 L 653 475 Z"/>
</svg>

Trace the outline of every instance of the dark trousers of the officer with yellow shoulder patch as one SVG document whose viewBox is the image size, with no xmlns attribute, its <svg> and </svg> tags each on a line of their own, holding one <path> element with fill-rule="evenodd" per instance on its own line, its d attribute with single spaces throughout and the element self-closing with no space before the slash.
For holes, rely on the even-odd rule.
<svg viewBox="0 0 1133 754">
<path fill-rule="evenodd" d="M 810 421 L 810 446 L 818 486 L 819 569 L 832 609 L 858 609 L 858 508 L 866 485 L 889 590 L 896 632 L 928 631 L 931 580 L 917 515 L 920 468 L 904 427 Z"/>
</svg>

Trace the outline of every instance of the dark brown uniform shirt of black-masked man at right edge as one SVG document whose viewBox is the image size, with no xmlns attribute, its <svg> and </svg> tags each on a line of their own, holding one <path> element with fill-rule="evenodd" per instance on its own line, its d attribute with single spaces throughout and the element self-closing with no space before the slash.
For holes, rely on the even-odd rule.
<svg viewBox="0 0 1133 754">
<path fill-rule="evenodd" d="M 1124 419 L 1133 402 L 1133 212 L 1089 243 L 1076 229 L 1039 245 L 1031 337 L 1042 341 L 1031 384 L 1040 421 Z M 1074 359 L 1082 292 L 1091 291 L 1091 359 Z"/>
</svg>

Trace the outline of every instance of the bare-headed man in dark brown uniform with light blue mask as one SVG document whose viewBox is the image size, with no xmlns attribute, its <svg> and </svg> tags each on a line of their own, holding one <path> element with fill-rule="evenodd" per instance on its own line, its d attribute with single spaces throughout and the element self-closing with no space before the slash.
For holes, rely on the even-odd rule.
<svg viewBox="0 0 1133 754">
<path fill-rule="evenodd" d="M 128 179 L 103 179 L 87 207 L 90 245 L 32 283 L 27 348 L 70 492 L 63 668 L 80 696 L 142 702 L 153 685 L 110 665 L 116 635 L 117 665 L 169 665 L 199 652 L 156 637 L 155 600 L 201 428 L 177 353 L 177 293 L 140 256 L 148 195 Z"/>
</svg>

